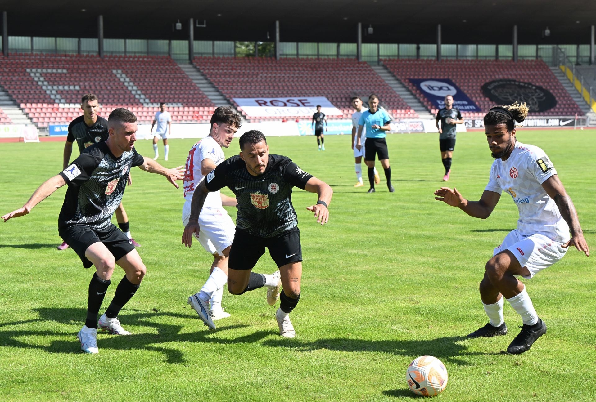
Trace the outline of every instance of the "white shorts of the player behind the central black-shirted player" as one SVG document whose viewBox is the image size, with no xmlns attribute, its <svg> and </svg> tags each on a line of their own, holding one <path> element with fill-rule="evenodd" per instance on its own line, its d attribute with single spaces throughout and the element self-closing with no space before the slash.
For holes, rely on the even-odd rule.
<svg viewBox="0 0 596 402">
<path fill-rule="evenodd" d="M 188 223 L 190 217 L 190 201 L 182 207 L 182 224 Z M 223 255 L 222 251 L 232 245 L 236 226 L 224 208 L 203 208 L 198 216 L 198 242 L 210 254 Z M 197 236 L 195 235 L 195 238 Z"/>
</svg>

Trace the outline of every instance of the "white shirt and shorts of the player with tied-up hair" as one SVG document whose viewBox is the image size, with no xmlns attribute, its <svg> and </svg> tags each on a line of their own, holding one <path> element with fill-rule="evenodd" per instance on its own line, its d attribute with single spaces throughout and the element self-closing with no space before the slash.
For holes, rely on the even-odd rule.
<svg viewBox="0 0 596 402">
<path fill-rule="evenodd" d="M 569 241 L 569 226 L 561 216 L 557 204 L 542 187 L 557 171 L 542 149 L 517 141 L 507 160 L 496 159 L 486 191 L 507 192 L 517 204 L 517 229 L 505 236 L 493 255 L 509 250 L 532 278 L 537 272 L 563 258 Z"/>
</svg>

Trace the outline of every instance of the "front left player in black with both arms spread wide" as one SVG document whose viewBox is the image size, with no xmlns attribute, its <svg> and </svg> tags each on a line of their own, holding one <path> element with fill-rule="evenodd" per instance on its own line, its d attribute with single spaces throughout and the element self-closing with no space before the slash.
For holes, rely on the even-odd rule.
<svg viewBox="0 0 596 402">
<path fill-rule="evenodd" d="M 181 180 L 184 173 L 183 166 L 166 169 L 136 152 L 136 116 L 131 111 L 123 108 L 112 111 L 108 130 L 107 141 L 86 148 L 63 172 L 39 186 L 23 208 L 1 217 L 6 222 L 26 215 L 54 191 L 65 184 L 69 186 L 58 217 L 58 232 L 79 255 L 83 266 L 95 265 L 96 271 L 89 283 L 85 326 L 77 334 L 81 349 L 86 353 L 98 353 L 98 326 L 110 334 L 131 334 L 122 328 L 117 316 L 141 285 L 146 272 L 132 242 L 110 222 L 124 194 L 129 170 L 139 166 L 146 172 L 162 174 L 176 188 L 176 180 Z M 98 322 L 115 264 L 122 267 L 126 275 Z"/>
</svg>

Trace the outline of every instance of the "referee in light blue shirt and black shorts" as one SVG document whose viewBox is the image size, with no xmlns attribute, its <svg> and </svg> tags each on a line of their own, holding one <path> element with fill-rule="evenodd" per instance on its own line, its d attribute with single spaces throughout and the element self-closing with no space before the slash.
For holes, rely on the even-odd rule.
<svg viewBox="0 0 596 402">
<path fill-rule="evenodd" d="M 361 147 L 360 138 L 364 127 L 367 129 L 367 139 L 364 142 L 366 154 L 364 161 L 368 166 L 368 183 L 370 189 L 367 192 L 375 192 L 374 189 L 374 158 L 378 156 L 381 166 L 385 170 L 385 178 L 387 179 L 387 188 L 389 192 L 394 192 L 395 188 L 391 184 L 391 166 L 389 166 L 389 150 L 387 150 L 386 132 L 391 128 L 391 117 L 389 113 L 378 107 L 378 96 L 371 94 L 368 96 L 369 109 L 362 113 L 358 121 L 358 139 L 356 139 L 356 147 Z"/>
</svg>

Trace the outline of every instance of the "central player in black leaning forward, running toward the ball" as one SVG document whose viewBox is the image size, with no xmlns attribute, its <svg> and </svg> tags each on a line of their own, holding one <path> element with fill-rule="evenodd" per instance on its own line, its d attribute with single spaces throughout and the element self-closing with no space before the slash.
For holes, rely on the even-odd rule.
<svg viewBox="0 0 596 402">
<path fill-rule="evenodd" d="M 240 155 L 219 164 L 195 189 L 190 219 L 182 235 L 182 242 L 187 247 L 193 234 L 198 235 L 198 215 L 207 193 L 225 186 L 238 200 L 236 233 L 228 260 L 228 291 L 243 294 L 266 285 L 265 277 L 252 269 L 268 248 L 280 269 L 283 285 L 275 319 L 280 334 L 293 338 L 296 332 L 288 314 L 300 300 L 302 247 L 296 211 L 291 203 L 292 188 L 318 194 L 316 204 L 306 209 L 315 214 L 316 222 L 321 225 L 329 220 L 327 205 L 333 191 L 326 183 L 300 169 L 290 158 L 269 155 L 263 133 L 250 130 L 240 137 Z"/>
</svg>

